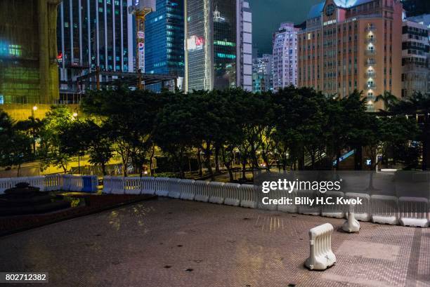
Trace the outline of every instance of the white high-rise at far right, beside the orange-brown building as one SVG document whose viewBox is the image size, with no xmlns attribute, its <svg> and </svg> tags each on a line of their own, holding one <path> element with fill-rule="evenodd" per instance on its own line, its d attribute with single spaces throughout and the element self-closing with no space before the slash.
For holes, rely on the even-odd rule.
<svg viewBox="0 0 430 287">
<path fill-rule="evenodd" d="M 430 15 L 403 21 L 402 97 L 430 93 L 429 22 Z"/>
</svg>

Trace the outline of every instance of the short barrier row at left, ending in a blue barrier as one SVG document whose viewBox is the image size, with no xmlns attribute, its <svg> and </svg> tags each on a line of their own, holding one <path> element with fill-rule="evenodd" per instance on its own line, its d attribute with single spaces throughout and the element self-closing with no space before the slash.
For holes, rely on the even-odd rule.
<svg viewBox="0 0 430 287">
<path fill-rule="evenodd" d="M 15 187 L 20 182 L 27 182 L 32 187 L 39 187 L 41 192 L 60 190 L 63 192 L 96 192 L 96 175 L 39 175 L 22 178 L 0 178 L 0 194 Z"/>
</svg>

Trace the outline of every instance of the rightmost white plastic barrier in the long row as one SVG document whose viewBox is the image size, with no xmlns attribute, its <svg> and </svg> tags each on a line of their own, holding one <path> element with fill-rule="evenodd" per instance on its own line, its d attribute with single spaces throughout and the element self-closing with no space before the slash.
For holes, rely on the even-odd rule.
<svg viewBox="0 0 430 287">
<path fill-rule="evenodd" d="M 424 197 L 402 196 L 398 199 L 400 224 L 410 227 L 429 227 L 429 200 Z"/>
</svg>

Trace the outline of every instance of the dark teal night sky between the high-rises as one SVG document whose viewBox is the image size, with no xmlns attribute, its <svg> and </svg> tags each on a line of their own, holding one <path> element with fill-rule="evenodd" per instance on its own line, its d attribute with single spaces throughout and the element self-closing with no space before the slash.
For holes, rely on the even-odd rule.
<svg viewBox="0 0 430 287">
<path fill-rule="evenodd" d="M 281 22 L 300 24 L 312 5 L 323 0 L 249 0 L 252 9 L 252 41 L 259 53 L 272 53 L 272 34 Z"/>
</svg>

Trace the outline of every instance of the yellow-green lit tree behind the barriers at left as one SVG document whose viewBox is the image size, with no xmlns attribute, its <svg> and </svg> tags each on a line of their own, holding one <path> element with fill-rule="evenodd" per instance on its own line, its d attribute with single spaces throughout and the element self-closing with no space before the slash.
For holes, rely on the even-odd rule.
<svg viewBox="0 0 430 287">
<path fill-rule="evenodd" d="M 62 168 L 64 173 L 67 172 L 67 164 L 72 152 L 65 151 L 60 135 L 72 121 L 74 118 L 69 109 L 62 105 L 52 106 L 51 110 L 46 113 L 40 132 L 39 159 L 42 171 L 53 165 Z M 74 142 L 73 139 L 71 141 Z"/>
</svg>

